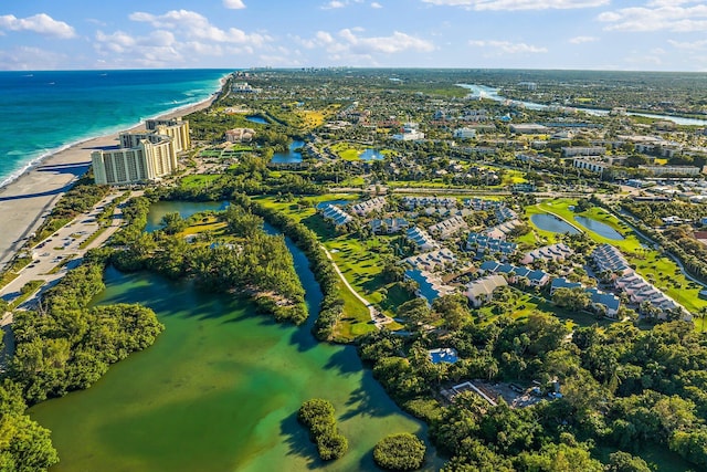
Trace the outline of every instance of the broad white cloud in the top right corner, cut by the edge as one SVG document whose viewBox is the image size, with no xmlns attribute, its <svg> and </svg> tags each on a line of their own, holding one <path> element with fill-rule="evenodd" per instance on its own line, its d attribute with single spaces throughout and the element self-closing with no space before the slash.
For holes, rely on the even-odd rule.
<svg viewBox="0 0 707 472">
<path fill-rule="evenodd" d="M 606 11 L 598 20 L 606 24 L 609 31 L 646 32 L 674 31 L 690 32 L 707 30 L 707 4 L 695 0 L 655 0 L 646 7 L 622 8 Z M 687 6 L 687 7 L 683 7 Z"/>
</svg>

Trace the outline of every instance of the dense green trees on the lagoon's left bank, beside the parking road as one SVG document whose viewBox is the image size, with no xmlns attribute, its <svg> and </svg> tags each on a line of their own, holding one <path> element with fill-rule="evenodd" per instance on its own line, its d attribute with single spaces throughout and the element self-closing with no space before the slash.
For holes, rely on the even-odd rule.
<svg viewBox="0 0 707 472">
<path fill-rule="evenodd" d="M 30 403 L 84 389 L 110 364 L 150 346 L 163 326 L 140 305 L 89 306 L 103 265 L 83 264 L 46 292 L 35 311 L 14 313 L 9 377 Z"/>
</svg>

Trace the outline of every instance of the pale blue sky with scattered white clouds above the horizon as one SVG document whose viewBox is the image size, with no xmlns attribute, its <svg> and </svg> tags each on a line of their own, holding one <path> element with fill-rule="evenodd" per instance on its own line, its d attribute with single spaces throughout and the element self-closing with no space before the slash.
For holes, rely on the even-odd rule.
<svg viewBox="0 0 707 472">
<path fill-rule="evenodd" d="M 707 72 L 707 0 L 6 0 L 0 69 Z"/>
</svg>

